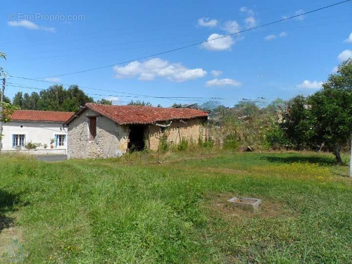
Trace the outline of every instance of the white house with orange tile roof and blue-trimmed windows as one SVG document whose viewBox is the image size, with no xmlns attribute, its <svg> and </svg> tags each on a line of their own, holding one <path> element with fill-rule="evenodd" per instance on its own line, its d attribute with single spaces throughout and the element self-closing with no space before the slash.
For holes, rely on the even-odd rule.
<svg viewBox="0 0 352 264">
<path fill-rule="evenodd" d="M 73 112 L 16 110 L 3 123 L 1 152 L 66 154 L 67 132 L 62 124 Z"/>
</svg>

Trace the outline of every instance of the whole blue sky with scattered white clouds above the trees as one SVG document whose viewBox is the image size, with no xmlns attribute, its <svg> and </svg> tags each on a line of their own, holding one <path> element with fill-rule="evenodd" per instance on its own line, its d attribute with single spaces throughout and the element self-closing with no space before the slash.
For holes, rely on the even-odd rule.
<svg viewBox="0 0 352 264">
<path fill-rule="evenodd" d="M 95 98 L 130 92 L 154 96 L 242 98 L 311 94 L 341 61 L 352 57 L 352 1 L 319 12 L 150 59 L 85 73 L 294 16 L 338 0 L 297 1 L 5 1 L 1 61 L 10 75 L 83 88 Z M 31 17 L 32 16 L 32 17 Z M 51 20 L 51 21 L 50 21 Z M 8 82 L 48 88 L 49 83 Z M 7 87 L 6 95 L 34 89 Z M 113 91 L 113 92 L 112 92 Z M 168 99 L 140 98 L 170 106 Z M 201 101 L 184 101 L 182 103 Z"/>
</svg>

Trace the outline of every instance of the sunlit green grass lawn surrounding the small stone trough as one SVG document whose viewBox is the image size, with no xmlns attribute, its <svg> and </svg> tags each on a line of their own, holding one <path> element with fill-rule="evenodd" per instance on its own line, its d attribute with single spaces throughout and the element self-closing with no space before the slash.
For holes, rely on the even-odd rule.
<svg viewBox="0 0 352 264">
<path fill-rule="evenodd" d="M 21 227 L 27 263 L 351 262 L 352 181 L 332 155 L 203 156 L 2 156 L 0 214 Z M 261 213 L 231 196 L 263 199 Z"/>
</svg>

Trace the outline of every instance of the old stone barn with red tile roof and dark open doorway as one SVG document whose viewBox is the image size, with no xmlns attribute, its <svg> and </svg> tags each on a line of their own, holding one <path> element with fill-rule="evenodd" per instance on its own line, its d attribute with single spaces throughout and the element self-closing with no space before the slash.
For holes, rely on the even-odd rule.
<svg viewBox="0 0 352 264">
<path fill-rule="evenodd" d="M 128 150 L 157 150 L 161 137 L 171 144 L 197 141 L 208 113 L 188 108 L 111 106 L 87 103 L 68 119 L 67 157 L 116 157 Z"/>
</svg>

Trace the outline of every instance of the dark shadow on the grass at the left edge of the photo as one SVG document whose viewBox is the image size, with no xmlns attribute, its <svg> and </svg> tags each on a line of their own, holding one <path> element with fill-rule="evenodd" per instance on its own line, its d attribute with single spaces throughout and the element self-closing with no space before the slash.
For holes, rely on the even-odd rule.
<svg viewBox="0 0 352 264">
<path fill-rule="evenodd" d="M 0 189 L 0 232 L 4 228 L 8 228 L 13 225 L 15 219 L 12 217 L 7 217 L 6 213 L 16 211 L 14 208 L 15 205 L 22 203 L 20 197 L 21 194 L 11 194 Z M 23 206 L 27 204 L 28 203 L 22 203 Z"/>
</svg>

